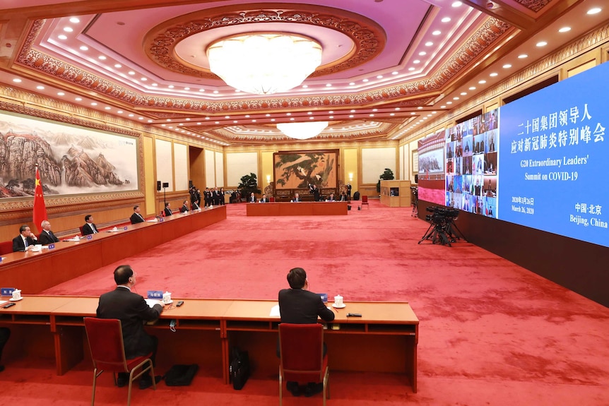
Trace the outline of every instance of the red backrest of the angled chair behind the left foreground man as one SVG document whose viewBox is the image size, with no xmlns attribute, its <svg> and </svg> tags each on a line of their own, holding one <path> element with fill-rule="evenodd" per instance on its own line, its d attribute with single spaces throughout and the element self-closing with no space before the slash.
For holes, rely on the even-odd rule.
<svg viewBox="0 0 609 406">
<path fill-rule="evenodd" d="M 85 330 L 95 368 L 129 372 L 119 319 L 85 317 Z"/>
</svg>

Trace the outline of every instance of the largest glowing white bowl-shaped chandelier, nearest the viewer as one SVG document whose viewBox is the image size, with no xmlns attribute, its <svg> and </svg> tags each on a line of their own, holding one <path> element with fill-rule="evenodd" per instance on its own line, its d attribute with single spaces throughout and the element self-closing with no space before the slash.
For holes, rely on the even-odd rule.
<svg viewBox="0 0 609 406">
<path fill-rule="evenodd" d="M 254 95 L 287 92 L 321 64 L 321 45 L 288 33 L 251 32 L 213 42 L 209 67 L 229 86 Z"/>
</svg>

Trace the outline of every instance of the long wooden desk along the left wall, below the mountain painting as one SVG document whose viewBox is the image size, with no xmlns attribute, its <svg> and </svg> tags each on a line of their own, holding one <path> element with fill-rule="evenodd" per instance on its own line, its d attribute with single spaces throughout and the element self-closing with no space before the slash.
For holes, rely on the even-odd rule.
<svg viewBox="0 0 609 406">
<path fill-rule="evenodd" d="M 90 239 L 59 241 L 54 249 L 8 253 L 0 263 L 0 287 L 37 294 L 221 220 L 226 220 L 225 206 L 175 214 L 162 222 L 126 225 L 118 227 L 117 232 L 102 230 Z"/>
</svg>

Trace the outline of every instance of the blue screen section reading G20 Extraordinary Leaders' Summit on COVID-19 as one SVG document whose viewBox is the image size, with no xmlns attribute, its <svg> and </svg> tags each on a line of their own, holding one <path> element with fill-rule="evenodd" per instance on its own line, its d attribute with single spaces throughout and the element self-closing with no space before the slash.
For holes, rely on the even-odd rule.
<svg viewBox="0 0 609 406">
<path fill-rule="evenodd" d="M 501 107 L 499 219 L 609 246 L 609 64 Z"/>
</svg>

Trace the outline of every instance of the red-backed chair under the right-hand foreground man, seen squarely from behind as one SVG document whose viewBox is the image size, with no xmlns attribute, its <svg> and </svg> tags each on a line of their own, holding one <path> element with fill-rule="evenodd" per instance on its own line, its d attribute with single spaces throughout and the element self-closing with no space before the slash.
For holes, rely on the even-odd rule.
<svg viewBox="0 0 609 406">
<path fill-rule="evenodd" d="M 323 382 L 324 406 L 330 398 L 328 354 L 324 355 L 324 326 L 321 324 L 279 325 L 279 405 L 283 381 Z"/>
</svg>

